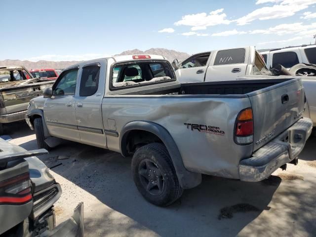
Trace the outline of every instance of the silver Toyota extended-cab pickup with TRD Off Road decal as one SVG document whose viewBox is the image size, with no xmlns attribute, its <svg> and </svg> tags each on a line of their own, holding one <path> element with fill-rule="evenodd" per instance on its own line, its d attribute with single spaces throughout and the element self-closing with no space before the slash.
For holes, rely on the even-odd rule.
<svg viewBox="0 0 316 237">
<path fill-rule="evenodd" d="M 303 112 L 300 79 L 180 84 L 164 57 L 129 55 L 65 69 L 26 121 L 39 148 L 57 137 L 132 156 L 139 192 L 166 206 L 201 174 L 253 182 L 295 161 Z"/>
</svg>

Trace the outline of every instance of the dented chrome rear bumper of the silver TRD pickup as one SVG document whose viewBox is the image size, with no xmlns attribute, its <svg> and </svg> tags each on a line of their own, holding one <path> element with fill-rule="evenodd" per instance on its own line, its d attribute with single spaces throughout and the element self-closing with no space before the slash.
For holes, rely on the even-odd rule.
<svg viewBox="0 0 316 237">
<path fill-rule="evenodd" d="M 313 122 L 301 118 L 274 140 L 257 150 L 251 158 L 239 162 L 239 178 L 257 182 L 271 175 L 281 165 L 296 158 L 312 133 Z"/>
</svg>

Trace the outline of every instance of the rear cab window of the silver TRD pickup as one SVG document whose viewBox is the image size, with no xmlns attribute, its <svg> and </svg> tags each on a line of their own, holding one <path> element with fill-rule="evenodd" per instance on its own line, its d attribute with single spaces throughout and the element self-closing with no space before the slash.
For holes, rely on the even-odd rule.
<svg viewBox="0 0 316 237">
<path fill-rule="evenodd" d="M 166 62 L 117 64 L 112 71 L 112 86 L 138 86 L 174 79 Z"/>
</svg>

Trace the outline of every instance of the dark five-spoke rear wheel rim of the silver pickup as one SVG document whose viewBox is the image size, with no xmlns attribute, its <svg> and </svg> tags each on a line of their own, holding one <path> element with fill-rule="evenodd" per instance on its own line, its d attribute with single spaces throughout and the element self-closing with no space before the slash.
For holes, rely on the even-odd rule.
<svg viewBox="0 0 316 237">
<path fill-rule="evenodd" d="M 139 179 L 144 189 L 152 195 L 160 195 L 164 191 L 165 181 L 158 165 L 150 159 L 144 159 L 138 166 Z"/>
</svg>

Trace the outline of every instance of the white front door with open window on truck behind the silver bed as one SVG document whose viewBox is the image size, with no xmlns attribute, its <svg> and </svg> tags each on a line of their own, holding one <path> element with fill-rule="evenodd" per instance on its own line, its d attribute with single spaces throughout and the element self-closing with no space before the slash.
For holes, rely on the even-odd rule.
<svg viewBox="0 0 316 237">
<path fill-rule="evenodd" d="M 207 70 L 210 52 L 199 53 L 183 61 L 175 72 L 180 83 L 201 82 Z"/>
</svg>

